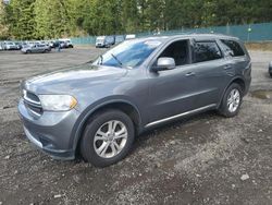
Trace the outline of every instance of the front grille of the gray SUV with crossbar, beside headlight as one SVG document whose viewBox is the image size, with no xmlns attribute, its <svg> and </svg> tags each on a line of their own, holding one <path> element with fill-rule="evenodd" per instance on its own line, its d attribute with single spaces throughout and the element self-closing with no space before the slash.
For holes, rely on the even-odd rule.
<svg viewBox="0 0 272 205">
<path fill-rule="evenodd" d="M 24 102 L 28 110 L 35 116 L 42 114 L 42 107 L 39 97 L 30 92 L 23 91 Z"/>
</svg>

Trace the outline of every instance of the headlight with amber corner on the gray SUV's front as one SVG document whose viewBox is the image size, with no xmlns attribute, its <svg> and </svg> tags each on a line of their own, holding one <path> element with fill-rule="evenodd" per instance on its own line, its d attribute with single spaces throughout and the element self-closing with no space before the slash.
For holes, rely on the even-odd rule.
<svg viewBox="0 0 272 205">
<path fill-rule="evenodd" d="M 48 111 L 67 111 L 73 109 L 77 101 L 70 95 L 39 95 L 44 110 Z"/>
</svg>

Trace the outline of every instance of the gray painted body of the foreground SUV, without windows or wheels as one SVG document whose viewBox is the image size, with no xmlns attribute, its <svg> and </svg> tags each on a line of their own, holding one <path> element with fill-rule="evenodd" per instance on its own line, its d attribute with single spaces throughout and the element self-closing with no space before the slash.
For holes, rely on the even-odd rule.
<svg viewBox="0 0 272 205">
<path fill-rule="evenodd" d="M 189 58 L 187 65 L 160 72 L 153 72 L 151 64 L 175 40 L 187 39 L 193 45 L 195 39 L 214 39 L 221 47 L 219 38 L 238 41 L 237 38 L 219 35 L 148 38 L 162 44 L 138 68 L 121 69 L 86 63 L 29 79 L 22 84 L 22 88 L 36 95 L 69 94 L 77 99 L 78 105 L 66 112 L 45 111 L 37 118 L 27 111 L 21 100 L 18 111 L 26 135 L 33 142 L 33 137 L 36 141 L 48 140 L 40 147 L 42 150 L 58 158 L 71 159 L 74 158 L 84 123 L 95 110 L 106 105 L 125 102 L 134 107 L 140 118 L 139 132 L 177 117 L 217 109 L 224 91 L 234 80 L 239 79 L 245 83 L 245 94 L 248 91 L 251 63 L 244 46 L 244 57 L 225 56 L 201 63 L 191 63 Z M 191 52 L 191 47 L 189 50 Z M 36 141 L 34 143 L 37 145 Z"/>
</svg>

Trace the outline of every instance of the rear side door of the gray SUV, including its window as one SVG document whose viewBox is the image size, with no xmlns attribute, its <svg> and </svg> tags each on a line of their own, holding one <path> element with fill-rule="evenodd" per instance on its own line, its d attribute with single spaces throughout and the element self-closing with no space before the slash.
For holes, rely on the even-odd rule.
<svg viewBox="0 0 272 205">
<path fill-rule="evenodd" d="M 218 105 L 222 92 L 230 82 L 226 71 L 233 69 L 224 58 L 217 39 L 193 39 L 194 81 L 191 81 L 196 107 Z"/>
</svg>

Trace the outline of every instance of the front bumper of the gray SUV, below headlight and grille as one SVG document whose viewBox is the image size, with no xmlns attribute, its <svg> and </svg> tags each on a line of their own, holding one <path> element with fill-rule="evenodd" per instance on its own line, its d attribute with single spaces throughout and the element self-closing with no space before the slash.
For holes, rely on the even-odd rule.
<svg viewBox="0 0 272 205">
<path fill-rule="evenodd" d="M 27 138 L 42 152 L 57 159 L 74 159 L 73 126 L 78 111 L 44 112 L 39 118 L 32 114 L 24 105 L 18 102 L 18 113 Z"/>
</svg>

